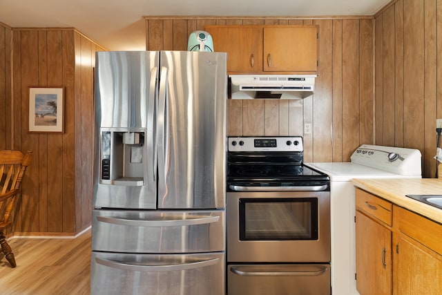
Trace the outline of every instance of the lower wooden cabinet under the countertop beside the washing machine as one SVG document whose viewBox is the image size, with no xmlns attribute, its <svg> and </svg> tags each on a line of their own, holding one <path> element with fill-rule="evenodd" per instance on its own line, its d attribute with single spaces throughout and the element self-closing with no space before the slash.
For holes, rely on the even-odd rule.
<svg viewBox="0 0 442 295">
<path fill-rule="evenodd" d="M 356 189 L 356 288 L 441 295 L 442 225 Z"/>
</svg>

